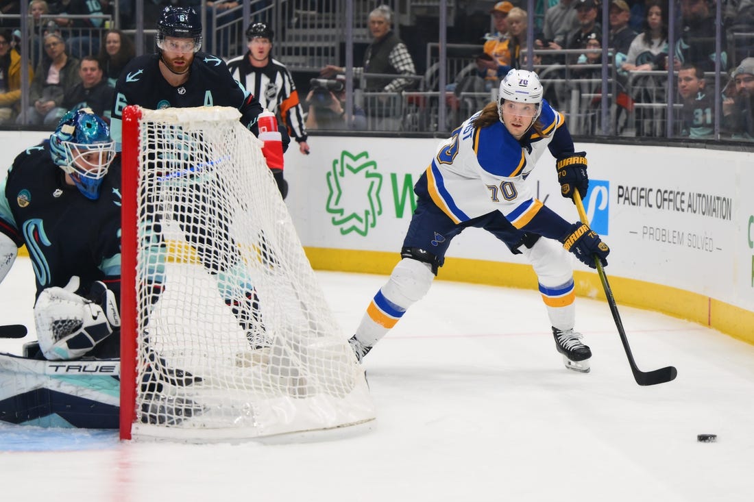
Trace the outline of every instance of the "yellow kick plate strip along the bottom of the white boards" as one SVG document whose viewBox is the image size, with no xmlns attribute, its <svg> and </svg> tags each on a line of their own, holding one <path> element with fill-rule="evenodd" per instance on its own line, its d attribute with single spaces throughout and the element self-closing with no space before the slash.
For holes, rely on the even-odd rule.
<svg viewBox="0 0 754 502">
<path fill-rule="evenodd" d="M 307 247 L 305 251 L 315 270 L 389 275 L 400 261 L 399 253 L 318 247 Z M 537 276 L 532 267 L 514 263 L 448 258 L 437 278 L 489 286 L 538 289 Z M 683 289 L 625 277 L 611 277 L 609 273 L 608 281 L 619 309 L 621 305 L 627 305 L 661 312 L 717 329 L 754 345 L 752 311 Z M 574 283 L 576 295 L 605 301 L 605 291 L 596 271 L 575 271 Z"/>
</svg>

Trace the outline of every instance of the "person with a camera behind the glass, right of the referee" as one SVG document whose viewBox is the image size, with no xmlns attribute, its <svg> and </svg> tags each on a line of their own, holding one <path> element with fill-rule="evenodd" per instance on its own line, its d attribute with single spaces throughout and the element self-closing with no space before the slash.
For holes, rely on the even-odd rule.
<svg viewBox="0 0 754 502">
<path fill-rule="evenodd" d="M 307 129 L 366 130 L 366 114 L 358 107 L 354 107 L 354 116 L 346 125 L 345 78 L 342 75 L 335 80 L 312 78 L 309 84 L 311 90 L 306 96 L 306 103 L 309 105 Z"/>
</svg>

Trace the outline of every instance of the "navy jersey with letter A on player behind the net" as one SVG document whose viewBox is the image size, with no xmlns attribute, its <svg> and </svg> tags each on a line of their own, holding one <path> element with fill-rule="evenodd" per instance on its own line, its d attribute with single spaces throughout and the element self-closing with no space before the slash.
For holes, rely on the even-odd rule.
<svg viewBox="0 0 754 502">
<path fill-rule="evenodd" d="M 160 55 L 145 54 L 134 58 L 115 83 L 110 132 L 120 150 L 121 118 L 128 105 L 150 110 L 191 108 L 194 106 L 231 106 L 241 112 L 241 123 L 259 136 L 256 119 L 262 105 L 238 83 L 219 57 L 204 52 L 194 55 L 189 80 L 177 87 L 170 85 L 160 72 Z"/>
</svg>

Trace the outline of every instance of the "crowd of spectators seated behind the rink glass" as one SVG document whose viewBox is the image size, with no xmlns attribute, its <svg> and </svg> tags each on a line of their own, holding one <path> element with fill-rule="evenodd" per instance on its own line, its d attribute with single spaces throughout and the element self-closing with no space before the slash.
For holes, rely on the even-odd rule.
<svg viewBox="0 0 754 502">
<path fill-rule="evenodd" d="M 603 74 L 595 66 L 608 61 L 609 84 L 616 85 L 616 99 L 610 93 L 613 133 L 629 131 L 637 136 L 664 136 L 665 123 L 673 119 L 678 136 L 710 138 L 715 110 L 722 112 L 722 137 L 754 139 L 754 123 L 749 106 L 750 59 L 754 57 L 754 0 L 714 2 L 713 0 L 670 0 L 674 2 L 676 19 L 670 20 L 669 0 L 550 0 L 544 9 L 535 9 L 532 18 L 525 10 L 524 0 L 504 0 L 492 4 L 484 38 L 469 40 L 479 44 L 470 63 L 477 72 L 464 75 L 466 81 L 447 82 L 450 89 L 471 89 L 483 95 L 495 90 L 497 83 L 510 69 L 529 68 L 527 60 L 527 29 L 533 28 L 535 58 L 532 63 L 543 76 L 545 96 L 563 112 L 574 112 L 572 92 L 581 94 L 578 113 L 590 116 L 577 133 L 600 132 L 594 119 Z M 119 2 L 120 18 L 106 23 Z M 601 2 L 609 2 L 607 11 Z M 112 95 L 101 91 L 112 89 L 121 69 L 136 56 L 133 35 L 124 29 L 133 28 L 133 2 L 120 0 L 31 0 L 29 18 L 29 108 L 20 114 L 20 32 L 17 18 L 20 2 L 0 0 L 0 124 L 33 124 L 54 127 L 69 107 L 85 103 L 95 111 L 106 110 L 101 99 Z M 201 0 L 152 0 L 146 2 L 147 17 L 163 5 L 207 8 L 207 24 L 213 29 L 213 17 L 238 17 L 240 2 L 201 2 Z M 148 5 L 147 5 L 148 4 Z M 722 19 L 726 31 L 716 38 L 716 8 L 724 9 Z M 147 8 L 149 7 L 149 8 Z M 602 19 L 603 13 L 608 19 Z M 244 23 L 244 26 L 250 26 Z M 669 45 L 669 26 L 674 22 L 674 44 Z M 602 25 L 608 24 L 608 37 L 602 39 Z M 394 31 L 394 13 L 385 5 L 369 12 L 372 41 L 363 52 L 362 64 L 354 68 L 354 83 L 366 99 L 352 103 L 351 122 L 345 121 L 345 85 L 334 85 L 343 78 L 342 61 L 324 66 L 320 76 L 330 84 L 314 84 L 300 90 L 302 113 L 296 138 L 304 138 L 305 130 L 338 127 L 402 130 L 404 127 L 403 93 L 419 87 L 421 68 L 415 64 L 415 45 L 406 44 Z M 285 36 L 285 30 L 280 30 Z M 212 51 L 225 57 L 227 38 L 215 38 Z M 718 50 L 717 43 L 722 44 Z M 730 51 L 728 50 L 730 47 Z M 607 52 L 602 53 L 605 49 Z M 564 51 L 566 50 L 566 51 Z M 274 57 L 274 52 L 271 53 Z M 285 64 L 285 60 L 277 63 Z M 420 70 L 420 71 L 417 71 Z M 672 72 L 668 73 L 669 70 Z M 720 87 L 714 87 L 719 72 Z M 295 75 L 295 70 L 293 74 Z M 672 84 L 667 84 L 672 75 Z M 94 78 L 97 76 L 97 78 Z M 460 78 L 460 77 L 459 77 Z M 308 81 L 308 79 L 307 79 Z M 468 81 L 474 81 L 469 85 Z M 548 81 L 553 81 L 548 85 Z M 730 83 L 729 83 L 730 82 Z M 297 81 L 298 83 L 298 81 Z M 727 86 L 725 84 L 728 84 Z M 294 86 L 295 90 L 295 86 Z M 668 92 L 673 93 L 672 96 Z M 261 91 L 260 91 L 261 92 Z M 111 93 L 112 94 L 112 93 Z M 456 96 L 458 93 L 456 93 Z M 672 97 L 676 108 L 668 115 L 664 105 Z M 316 101 L 316 103 L 314 103 Z M 448 102 L 449 103 L 449 102 Z M 480 101 L 475 102 L 474 106 Z M 316 106 L 312 106 L 316 105 Z M 317 108 L 318 107 L 318 108 Z M 283 106 L 284 112 L 288 106 Z M 354 113 L 355 112 L 355 113 Z M 626 118 L 626 115 L 630 117 Z M 618 125 L 615 115 L 623 114 Z M 321 124 L 317 124 L 317 116 Z M 709 120 L 708 120 L 709 119 Z M 281 124 L 289 119 L 280 118 Z M 449 124 L 452 125 L 452 124 Z M 442 126 L 436 126 L 442 127 Z M 301 142 L 301 141 L 299 141 Z M 305 149 L 305 148 L 304 148 Z"/>
</svg>

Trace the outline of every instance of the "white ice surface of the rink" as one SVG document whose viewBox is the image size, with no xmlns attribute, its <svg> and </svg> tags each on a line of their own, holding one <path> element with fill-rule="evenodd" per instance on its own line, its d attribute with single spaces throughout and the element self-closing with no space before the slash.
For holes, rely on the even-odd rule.
<svg viewBox="0 0 754 502">
<path fill-rule="evenodd" d="M 317 275 L 347 338 L 385 277 Z M 32 327 L 32 298 L 19 259 L 0 323 Z M 754 347 L 620 311 L 639 368 L 676 366 L 676 381 L 636 385 L 603 302 L 578 299 L 594 353 L 584 375 L 562 366 L 534 290 L 436 281 L 366 359 L 378 413 L 367 430 L 176 445 L 2 425 L 2 500 L 754 500 Z"/>
</svg>

